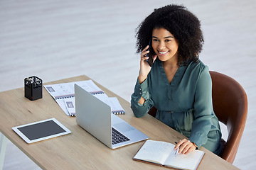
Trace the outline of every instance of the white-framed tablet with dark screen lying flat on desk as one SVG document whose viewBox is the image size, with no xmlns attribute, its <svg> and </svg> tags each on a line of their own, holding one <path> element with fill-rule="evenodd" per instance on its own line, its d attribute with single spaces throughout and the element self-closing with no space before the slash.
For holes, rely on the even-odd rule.
<svg viewBox="0 0 256 170">
<path fill-rule="evenodd" d="M 47 140 L 71 132 L 55 118 L 16 126 L 12 129 L 27 143 Z"/>
</svg>

